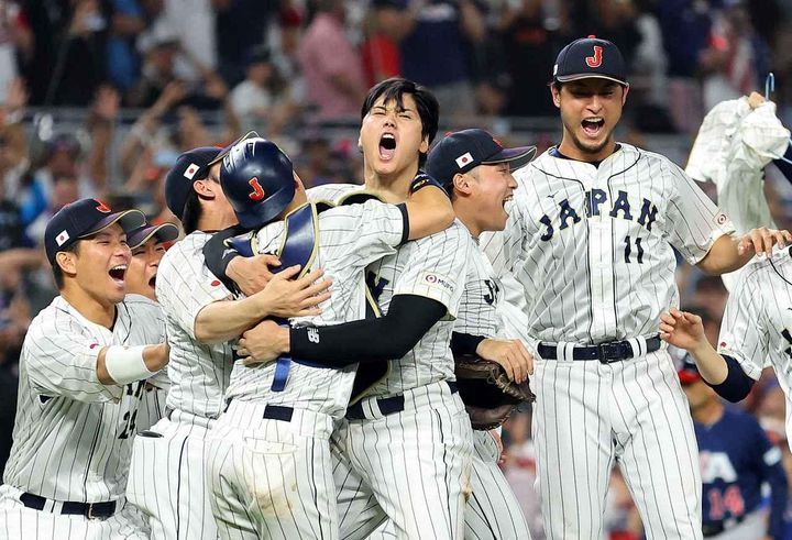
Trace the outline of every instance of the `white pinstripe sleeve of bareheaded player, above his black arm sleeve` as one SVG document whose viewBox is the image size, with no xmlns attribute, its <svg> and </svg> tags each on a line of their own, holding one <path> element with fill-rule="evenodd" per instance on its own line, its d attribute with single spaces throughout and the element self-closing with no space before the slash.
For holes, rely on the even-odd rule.
<svg viewBox="0 0 792 540">
<path fill-rule="evenodd" d="M 470 251 L 468 229 L 462 224 L 446 229 L 415 242 L 410 260 L 394 286 L 393 296 L 416 295 L 442 304 L 448 318 L 459 309 Z M 448 320 L 448 319 L 447 319 Z"/>
</svg>

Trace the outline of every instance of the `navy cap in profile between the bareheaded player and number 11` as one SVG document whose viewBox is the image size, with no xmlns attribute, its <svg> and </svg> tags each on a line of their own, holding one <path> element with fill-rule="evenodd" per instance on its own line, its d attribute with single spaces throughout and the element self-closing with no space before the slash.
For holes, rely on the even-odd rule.
<svg viewBox="0 0 792 540">
<path fill-rule="evenodd" d="M 536 155 L 536 146 L 504 148 L 491 133 L 463 130 L 449 133 L 429 152 L 425 170 L 448 190 L 457 174 L 479 165 L 508 163 L 512 170 L 525 166 Z"/>
</svg>

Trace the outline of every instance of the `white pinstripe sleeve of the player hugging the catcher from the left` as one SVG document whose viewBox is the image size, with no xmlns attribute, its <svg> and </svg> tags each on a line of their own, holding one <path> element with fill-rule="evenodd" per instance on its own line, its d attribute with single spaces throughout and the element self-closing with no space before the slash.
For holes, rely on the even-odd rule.
<svg viewBox="0 0 792 540">
<path fill-rule="evenodd" d="M 193 233 L 190 236 L 193 235 L 204 236 L 205 233 Z M 167 251 L 160 265 L 156 295 L 167 316 L 182 327 L 190 339 L 196 340 L 195 321 L 200 310 L 218 300 L 231 299 L 233 295 L 207 268 L 202 257 L 189 255 L 189 251 Z M 172 272 L 170 267 L 175 271 Z"/>
</svg>

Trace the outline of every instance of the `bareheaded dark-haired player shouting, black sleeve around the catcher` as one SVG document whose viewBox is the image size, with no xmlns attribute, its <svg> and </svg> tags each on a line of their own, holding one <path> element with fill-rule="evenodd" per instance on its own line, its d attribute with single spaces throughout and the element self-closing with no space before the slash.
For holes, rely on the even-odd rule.
<svg viewBox="0 0 792 540">
<path fill-rule="evenodd" d="M 437 100 L 411 81 L 387 79 L 369 92 L 361 117 L 365 187 L 402 202 L 437 133 Z M 322 186 L 308 196 L 337 200 L 359 189 Z M 332 434 L 342 538 L 365 538 L 386 518 L 400 537 L 462 535 L 472 429 L 453 382 L 449 341 L 469 257 L 466 236 L 454 222 L 369 265 L 366 282 L 385 317 L 256 337 L 272 354 L 311 362 L 358 362 L 397 351 L 384 379 L 362 386 L 365 397 L 355 392 Z M 370 373 L 365 367 L 358 370 L 359 383 Z"/>
</svg>

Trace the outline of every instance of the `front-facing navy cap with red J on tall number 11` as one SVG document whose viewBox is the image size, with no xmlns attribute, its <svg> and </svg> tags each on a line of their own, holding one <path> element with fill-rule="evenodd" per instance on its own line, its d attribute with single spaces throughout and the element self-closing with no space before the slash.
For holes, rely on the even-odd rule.
<svg viewBox="0 0 792 540">
<path fill-rule="evenodd" d="M 616 45 L 590 35 L 561 49 L 553 66 L 553 80 L 569 82 L 587 78 L 608 79 L 627 86 L 627 68 Z"/>
</svg>

